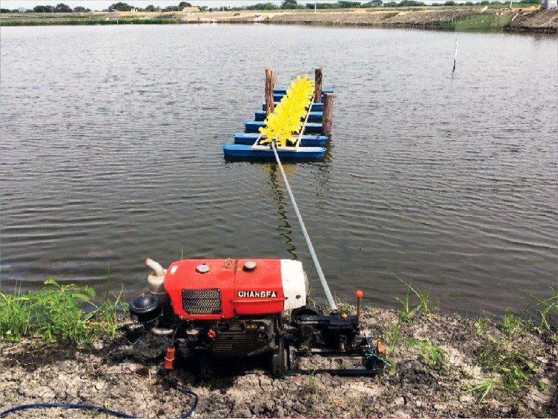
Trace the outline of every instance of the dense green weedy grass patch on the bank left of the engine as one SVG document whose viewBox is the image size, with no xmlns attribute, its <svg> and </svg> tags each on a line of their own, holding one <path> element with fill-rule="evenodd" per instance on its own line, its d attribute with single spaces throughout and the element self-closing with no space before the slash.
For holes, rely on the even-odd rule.
<svg viewBox="0 0 558 419">
<path fill-rule="evenodd" d="M 118 315 L 126 305 L 121 300 L 122 291 L 111 296 L 110 273 L 101 305 L 91 301 L 96 293 L 86 285 L 54 280 L 46 280 L 45 285 L 40 291 L 22 293 L 19 287 L 13 294 L 0 293 L 0 336 L 7 342 L 29 336 L 79 346 L 91 344 L 99 335 L 116 335 Z"/>
</svg>

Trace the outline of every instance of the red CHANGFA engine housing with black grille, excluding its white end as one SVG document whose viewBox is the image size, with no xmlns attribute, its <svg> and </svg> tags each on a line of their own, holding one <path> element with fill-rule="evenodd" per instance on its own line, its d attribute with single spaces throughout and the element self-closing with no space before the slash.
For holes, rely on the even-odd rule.
<svg viewBox="0 0 558 419">
<path fill-rule="evenodd" d="M 169 266 L 164 289 L 183 320 L 232 319 L 284 310 L 279 259 L 187 259 Z"/>
</svg>

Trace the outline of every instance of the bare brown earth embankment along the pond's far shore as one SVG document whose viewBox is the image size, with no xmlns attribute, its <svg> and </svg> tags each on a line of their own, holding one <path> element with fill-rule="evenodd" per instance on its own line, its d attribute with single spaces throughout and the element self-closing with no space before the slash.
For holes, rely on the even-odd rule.
<svg viewBox="0 0 558 419">
<path fill-rule="evenodd" d="M 2 13 L 1 26 L 90 24 L 267 23 L 323 26 L 396 26 L 453 31 L 505 30 L 557 33 L 556 10 L 436 7 L 321 10 L 246 10 L 240 13 Z"/>
</svg>

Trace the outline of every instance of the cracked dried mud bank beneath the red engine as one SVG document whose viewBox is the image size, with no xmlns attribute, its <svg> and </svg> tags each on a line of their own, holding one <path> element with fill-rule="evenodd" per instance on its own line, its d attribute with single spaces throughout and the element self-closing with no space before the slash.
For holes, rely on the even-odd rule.
<svg viewBox="0 0 558 419">
<path fill-rule="evenodd" d="M 364 310 L 364 328 L 374 338 L 398 335 L 392 367 L 369 377 L 287 375 L 274 379 L 265 370 L 216 375 L 196 382 L 186 370 L 173 370 L 179 386 L 199 395 L 193 418 L 421 418 L 558 416 L 557 332 L 516 326 L 511 333 L 501 321 L 476 321 L 431 314 L 398 323 L 391 310 Z M 41 340 L 1 345 L 1 411 L 33 403 L 104 406 L 141 418 L 175 418 L 189 410 L 192 397 L 169 387 L 162 365 L 168 338 L 145 333 L 124 321 L 121 333 L 75 349 Z M 441 360 L 433 356 L 441 356 Z M 532 374 L 512 393 L 496 384 L 481 399 L 474 386 L 504 382 L 504 370 L 486 367 L 486 360 L 510 367 L 509 360 Z M 302 360 L 303 363 L 309 360 Z M 335 364 L 324 358 L 320 367 Z M 8 418 L 106 418 L 106 413 L 35 409 Z"/>
</svg>

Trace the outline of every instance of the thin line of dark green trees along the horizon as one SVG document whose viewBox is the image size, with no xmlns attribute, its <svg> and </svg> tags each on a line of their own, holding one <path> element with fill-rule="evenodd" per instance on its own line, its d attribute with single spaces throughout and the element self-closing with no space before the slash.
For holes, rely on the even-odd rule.
<svg viewBox="0 0 558 419">
<path fill-rule="evenodd" d="M 513 1 L 514 4 L 523 4 L 529 6 L 536 6 L 541 4 L 541 0 L 520 0 L 520 1 Z M 454 0 L 448 0 L 445 3 L 432 3 L 427 5 L 422 1 L 416 0 L 402 0 L 399 3 L 396 1 L 389 1 L 384 3 L 382 0 L 371 0 L 366 3 L 362 3 L 360 1 L 337 1 L 336 3 L 297 3 L 297 0 L 284 0 L 280 6 L 277 6 L 274 3 L 258 3 L 252 6 L 242 6 L 242 7 L 230 7 L 224 6 L 223 8 L 219 8 L 219 10 L 231 10 L 231 11 L 240 11 L 240 10 L 279 10 L 279 9 L 287 9 L 287 10 L 294 10 L 294 9 L 344 9 L 344 8 L 378 8 L 378 7 L 416 7 L 416 6 L 489 6 L 489 5 L 502 5 L 508 4 L 506 0 L 504 1 L 489 1 L 489 0 L 482 0 L 482 1 L 467 1 L 467 3 L 456 3 Z M 145 8 L 139 8 L 130 6 L 127 3 L 118 2 L 112 4 L 108 9 L 104 11 L 118 11 L 118 12 L 129 12 L 132 9 L 139 10 L 139 11 L 146 11 L 146 12 L 178 12 L 183 10 L 185 7 L 191 7 L 192 4 L 188 3 L 187 1 L 181 1 L 178 3 L 178 6 L 167 6 L 166 8 L 155 7 L 153 4 Z M 207 6 L 200 6 L 200 11 L 212 11 L 212 8 L 208 8 Z M 65 5 L 64 3 L 59 3 L 56 6 L 35 6 L 33 9 L 26 10 L 26 13 L 85 13 L 91 12 L 91 9 L 84 8 L 82 6 L 77 6 L 75 8 L 70 8 L 70 6 Z M 6 9 L 1 8 L 0 13 L 20 13 L 20 10 L 17 9 Z"/>
</svg>

